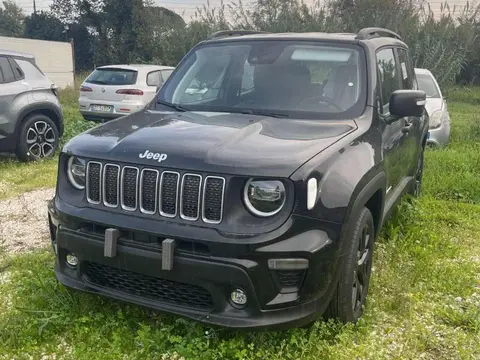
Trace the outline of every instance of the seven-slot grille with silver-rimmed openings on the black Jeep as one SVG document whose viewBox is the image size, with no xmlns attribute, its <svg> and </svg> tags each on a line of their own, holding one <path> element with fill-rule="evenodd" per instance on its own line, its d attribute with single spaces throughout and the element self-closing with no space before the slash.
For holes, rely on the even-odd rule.
<svg viewBox="0 0 480 360">
<path fill-rule="evenodd" d="M 87 164 L 87 201 L 124 211 L 219 224 L 225 179 L 132 166 Z"/>
</svg>

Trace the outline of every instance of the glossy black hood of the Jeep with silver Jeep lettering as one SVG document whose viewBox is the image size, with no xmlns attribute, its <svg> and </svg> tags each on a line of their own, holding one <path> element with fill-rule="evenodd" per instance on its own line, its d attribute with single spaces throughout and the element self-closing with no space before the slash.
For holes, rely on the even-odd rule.
<svg viewBox="0 0 480 360">
<path fill-rule="evenodd" d="M 73 138 L 64 151 L 151 167 L 288 177 L 356 128 L 353 120 L 145 110 Z M 157 156 L 144 157 L 147 151 Z"/>
</svg>

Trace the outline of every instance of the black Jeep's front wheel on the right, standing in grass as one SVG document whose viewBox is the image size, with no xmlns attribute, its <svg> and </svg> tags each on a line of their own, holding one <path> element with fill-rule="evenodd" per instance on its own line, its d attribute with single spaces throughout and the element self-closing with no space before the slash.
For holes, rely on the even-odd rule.
<svg viewBox="0 0 480 360">
<path fill-rule="evenodd" d="M 356 323 L 363 315 L 372 271 L 375 229 L 373 217 L 366 207 L 350 220 L 348 244 L 341 260 L 341 275 L 337 288 L 325 312 L 326 318 L 342 323 Z"/>
</svg>

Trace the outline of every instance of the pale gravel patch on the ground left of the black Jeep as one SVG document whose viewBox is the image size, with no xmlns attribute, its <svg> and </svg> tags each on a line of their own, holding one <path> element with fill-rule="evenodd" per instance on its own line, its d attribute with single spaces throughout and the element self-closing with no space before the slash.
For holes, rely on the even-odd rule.
<svg viewBox="0 0 480 360">
<path fill-rule="evenodd" d="M 7 253 L 48 245 L 47 202 L 54 195 L 55 189 L 42 189 L 0 201 L 0 246 Z"/>
</svg>

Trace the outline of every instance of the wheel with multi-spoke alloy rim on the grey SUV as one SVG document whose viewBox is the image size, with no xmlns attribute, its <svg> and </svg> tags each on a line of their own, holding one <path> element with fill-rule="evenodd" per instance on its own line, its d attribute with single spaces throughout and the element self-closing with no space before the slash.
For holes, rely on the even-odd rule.
<svg viewBox="0 0 480 360">
<path fill-rule="evenodd" d="M 33 114 L 20 126 L 15 154 L 20 161 L 51 158 L 59 146 L 57 125 L 48 116 Z"/>
</svg>

